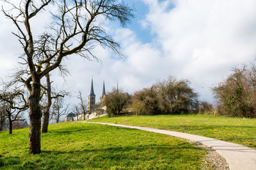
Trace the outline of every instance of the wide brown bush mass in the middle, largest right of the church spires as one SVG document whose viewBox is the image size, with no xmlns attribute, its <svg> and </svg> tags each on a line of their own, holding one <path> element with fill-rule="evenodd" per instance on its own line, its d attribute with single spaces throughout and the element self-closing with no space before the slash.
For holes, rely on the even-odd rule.
<svg viewBox="0 0 256 170">
<path fill-rule="evenodd" d="M 197 94 L 189 81 L 172 77 L 136 92 L 132 101 L 132 108 L 143 115 L 188 113 L 198 107 Z"/>
</svg>

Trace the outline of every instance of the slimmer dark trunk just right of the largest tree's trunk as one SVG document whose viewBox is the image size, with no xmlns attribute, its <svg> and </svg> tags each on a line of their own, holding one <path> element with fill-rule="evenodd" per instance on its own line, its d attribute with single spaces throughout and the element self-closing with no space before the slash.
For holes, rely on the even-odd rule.
<svg viewBox="0 0 256 170">
<path fill-rule="evenodd" d="M 50 108 L 52 105 L 50 74 L 47 73 L 45 77 L 47 82 L 47 108 L 43 115 L 42 133 L 46 133 L 48 131 Z"/>
</svg>

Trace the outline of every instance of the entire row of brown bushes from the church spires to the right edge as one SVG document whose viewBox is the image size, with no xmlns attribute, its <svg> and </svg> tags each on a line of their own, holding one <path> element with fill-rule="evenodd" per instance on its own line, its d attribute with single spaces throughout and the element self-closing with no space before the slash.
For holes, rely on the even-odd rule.
<svg viewBox="0 0 256 170">
<path fill-rule="evenodd" d="M 109 117 L 117 115 L 159 115 L 207 113 L 228 117 L 256 118 L 256 65 L 232 68 L 232 73 L 212 87 L 215 105 L 199 101 L 188 80 L 159 81 L 133 95 L 113 89 L 105 103 Z"/>
</svg>

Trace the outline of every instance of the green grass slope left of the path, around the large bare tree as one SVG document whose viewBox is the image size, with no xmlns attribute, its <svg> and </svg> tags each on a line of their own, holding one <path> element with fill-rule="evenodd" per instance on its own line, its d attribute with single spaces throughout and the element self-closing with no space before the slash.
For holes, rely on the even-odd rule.
<svg viewBox="0 0 256 170">
<path fill-rule="evenodd" d="M 200 169 L 206 155 L 163 134 L 79 122 L 50 125 L 41 154 L 28 147 L 28 128 L 0 132 L 0 169 Z"/>
</svg>

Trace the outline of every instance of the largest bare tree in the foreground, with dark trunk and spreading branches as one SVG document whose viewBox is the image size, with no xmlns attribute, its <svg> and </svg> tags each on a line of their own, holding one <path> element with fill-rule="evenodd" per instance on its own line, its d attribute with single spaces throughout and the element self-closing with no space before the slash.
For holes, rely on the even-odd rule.
<svg viewBox="0 0 256 170">
<path fill-rule="evenodd" d="M 120 45 L 113 41 L 106 31 L 99 25 L 100 18 L 106 20 L 118 20 L 120 24 L 125 25 L 132 17 L 132 9 L 118 0 L 86 0 L 86 1 L 66 1 L 66 0 L 24 0 L 17 1 L 3 0 L 6 5 L 2 11 L 7 18 L 12 20 L 17 27 L 18 32 L 13 32 L 19 39 L 24 50 L 24 65 L 28 66 L 27 76 L 20 76 L 20 80 L 29 91 L 29 153 L 37 154 L 41 152 L 40 146 L 40 124 L 42 111 L 40 109 L 41 79 L 53 69 L 60 66 L 61 62 L 68 55 L 76 53 L 86 59 L 97 59 L 93 54 L 95 45 L 100 44 L 110 48 L 118 55 Z M 38 15 L 40 11 L 48 10 L 47 6 L 51 3 L 58 4 L 58 10 L 49 11 L 54 16 L 55 24 L 51 24 L 53 34 L 44 33 L 54 39 L 54 46 L 50 49 L 44 49 L 44 43 L 41 41 L 44 55 L 47 59 L 41 60 L 36 57 L 36 39 L 33 36 L 35 30 L 31 25 L 31 20 Z M 54 13 L 58 11 L 57 13 Z M 50 24 L 49 24 L 50 25 Z M 45 38 L 47 38 L 45 36 Z M 76 43 L 74 43 L 76 42 Z M 50 63 L 50 66 L 47 66 Z M 24 75 L 24 74 L 23 74 Z"/>
</svg>

